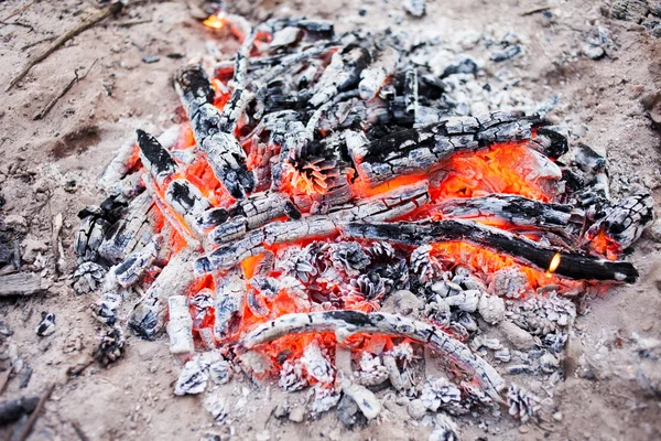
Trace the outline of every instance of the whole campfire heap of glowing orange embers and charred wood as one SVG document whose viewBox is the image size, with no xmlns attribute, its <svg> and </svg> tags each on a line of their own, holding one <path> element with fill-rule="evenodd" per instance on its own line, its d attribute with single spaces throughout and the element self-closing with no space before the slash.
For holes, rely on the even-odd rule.
<svg viewBox="0 0 661 441">
<path fill-rule="evenodd" d="M 506 374 L 562 376 L 574 302 L 638 277 L 621 256 L 651 196 L 611 201 L 606 160 L 541 115 L 462 116 L 393 32 L 205 24 L 236 55 L 177 73 L 180 123 L 137 130 L 100 179 L 107 198 L 80 212 L 75 288 L 100 292 L 97 359 L 118 361 L 127 331 L 166 332 L 175 394 L 207 394 L 219 422 L 231 409 L 214 390 L 239 372 L 308 388 L 311 418 L 337 408 L 348 426 L 379 416 L 384 387 L 422 413 L 531 418 L 539 400 Z"/>
</svg>

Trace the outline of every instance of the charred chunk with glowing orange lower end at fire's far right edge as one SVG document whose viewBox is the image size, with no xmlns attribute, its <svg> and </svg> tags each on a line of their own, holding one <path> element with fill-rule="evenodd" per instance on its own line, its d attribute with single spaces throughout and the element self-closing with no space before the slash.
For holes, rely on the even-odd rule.
<svg viewBox="0 0 661 441">
<path fill-rule="evenodd" d="M 654 220 L 654 200 L 649 193 L 641 193 L 620 201 L 602 220 L 594 224 L 585 234 L 595 248 L 609 257 L 617 257 Z M 599 240 L 605 241 L 604 245 Z M 599 247 L 603 247 L 599 249 Z"/>
</svg>

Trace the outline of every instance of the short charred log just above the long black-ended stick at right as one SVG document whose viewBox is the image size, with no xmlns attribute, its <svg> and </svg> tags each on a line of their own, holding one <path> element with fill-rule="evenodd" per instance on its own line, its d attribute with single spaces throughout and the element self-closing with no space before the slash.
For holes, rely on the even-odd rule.
<svg viewBox="0 0 661 441">
<path fill-rule="evenodd" d="M 543 203 L 508 194 L 445 201 L 430 206 L 430 214 L 474 220 L 496 218 L 513 228 L 542 229 L 567 236 L 573 228 L 581 229 L 585 222 L 583 212 L 572 205 Z"/>
</svg>

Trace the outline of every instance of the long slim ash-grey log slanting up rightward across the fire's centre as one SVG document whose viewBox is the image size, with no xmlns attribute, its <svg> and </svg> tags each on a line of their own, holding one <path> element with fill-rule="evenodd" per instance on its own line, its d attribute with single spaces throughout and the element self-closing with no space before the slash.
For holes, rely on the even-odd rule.
<svg viewBox="0 0 661 441">
<path fill-rule="evenodd" d="M 229 269 L 250 256 L 263 252 L 268 246 L 302 239 L 327 237 L 350 220 L 389 220 L 411 213 L 429 201 L 427 183 L 402 186 L 357 202 L 325 216 L 307 216 L 300 220 L 277 222 L 249 232 L 243 238 L 224 245 L 195 262 L 198 273 Z"/>
</svg>

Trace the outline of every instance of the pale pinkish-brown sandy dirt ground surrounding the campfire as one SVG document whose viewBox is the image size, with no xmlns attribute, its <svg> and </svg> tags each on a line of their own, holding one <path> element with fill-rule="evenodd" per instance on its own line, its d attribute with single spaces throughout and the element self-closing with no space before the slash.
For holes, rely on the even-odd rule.
<svg viewBox="0 0 661 441">
<path fill-rule="evenodd" d="M 1 2 L 0 18 L 26 3 Z M 540 6 L 549 6 L 550 13 L 525 13 Z M 661 90 L 661 40 L 633 21 L 606 17 L 608 3 L 436 0 L 427 2 L 422 20 L 408 18 L 397 0 L 264 0 L 231 7 L 253 21 L 273 14 L 330 19 L 339 31 L 400 26 L 452 37 L 487 26 L 514 29 L 527 53 L 508 63 L 523 87 L 539 101 L 559 95 L 551 118 L 568 128 L 572 142 L 606 154 L 616 195 L 644 185 L 657 203 L 661 201 L 661 136 L 642 104 Z M 0 24 L 2 88 L 48 43 L 26 45 L 59 35 L 94 11 L 91 0 L 36 1 L 4 22 L 14 24 Z M 147 22 L 121 24 L 141 20 Z M 604 58 L 590 60 L 581 49 L 597 25 L 609 31 L 615 44 Z M 250 440 L 425 439 L 431 428 L 412 420 L 405 406 L 394 402 L 387 402 L 382 420 L 353 431 L 333 412 L 318 421 L 282 422 L 270 417 L 275 404 L 304 401 L 305 395 L 283 396 L 277 385 L 257 388 L 240 380 L 227 386 L 228 400 L 240 418 L 214 427 L 197 398 L 174 397 L 180 366 L 164 340 L 129 336 L 126 357 L 116 365 L 106 369 L 91 364 L 79 376 L 67 375 L 67 368 L 89 359 L 99 330 L 88 310 L 94 298 L 74 293 L 68 271 L 55 275 L 51 219 L 57 213 L 64 216 L 64 248 L 72 270 L 76 214 L 100 201 L 97 178 L 117 149 L 133 139 L 137 128 L 158 132 L 172 123 L 178 99 L 171 75 L 185 60 L 204 53 L 205 42 L 214 39 L 212 31 L 191 18 L 184 1 L 137 2 L 66 43 L 11 92 L 0 93 L 0 195 L 6 201 L 0 219 L 12 216 L 15 233 L 47 245 L 42 251 L 45 261 L 25 256 L 24 269 L 39 270 L 50 281 L 44 294 L 0 300 L 0 316 L 14 332 L 10 341 L 33 369 L 24 388 L 19 378 L 11 378 L 0 399 L 39 396 L 48 383 L 57 381 L 30 440 L 75 440 L 74 424 L 90 440 L 198 440 L 206 433 L 230 431 L 236 439 Z M 160 60 L 142 61 L 152 55 Z M 45 118 L 33 120 L 75 69 L 90 72 Z M 572 346 L 581 368 L 555 390 L 556 418 L 520 427 L 507 416 L 487 416 L 486 424 L 478 427 L 475 418 L 463 417 L 458 419 L 463 439 L 661 439 L 657 361 L 661 355 L 661 228 L 655 227 L 658 233 L 646 233 L 629 256 L 641 280 L 592 300 L 587 313 L 578 318 Z M 56 331 L 42 338 L 34 329 L 43 311 L 55 313 Z M 11 432 L 11 426 L 0 428 L 1 437 Z"/>
</svg>

